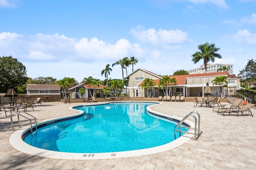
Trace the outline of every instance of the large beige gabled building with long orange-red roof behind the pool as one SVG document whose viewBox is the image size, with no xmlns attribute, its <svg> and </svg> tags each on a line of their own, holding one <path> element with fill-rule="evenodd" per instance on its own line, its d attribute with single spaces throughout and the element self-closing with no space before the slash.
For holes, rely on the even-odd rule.
<svg viewBox="0 0 256 170">
<path fill-rule="evenodd" d="M 227 72 L 175 75 L 169 76 L 170 78 L 175 77 L 177 80 L 177 83 L 175 85 L 172 85 L 172 93 L 170 94 L 170 96 L 182 95 L 185 97 L 204 97 L 204 88 L 206 87 L 206 83 L 209 83 L 212 96 L 219 97 L 220 86 L 212 84 L 212 80 L 218 76 L 228 77 L 229 88 L 224 88 L 223 92 L 225 95 L 235 95 L 236 90 L 240 89 L 241 78 Z M 152 94 L 152 96 L 150 97 L 158 97 L 164 95 L 163 90 L 158 87 L 158 82 L 160 81 L 160 79 L 162 79 L 160 75 L 144 69 L 137 69 L 125 78 L 129 80 L 127 91 L 128 96 L 130 97 L 147 97 L 146 90 L 142 88 L 142 83 L 146 78 L 153 79 L 153 81 L 155 82 L 155 87 L 152 87 L 150 89 Z"/>
</svg>

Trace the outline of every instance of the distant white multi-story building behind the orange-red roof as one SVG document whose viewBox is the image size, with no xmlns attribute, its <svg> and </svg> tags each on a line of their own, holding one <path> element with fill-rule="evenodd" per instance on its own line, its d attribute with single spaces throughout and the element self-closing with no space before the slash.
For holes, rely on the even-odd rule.
<svg viewBox="0 0 256 170">
<path fill-rule="evenodd" d="M 223 66 L 225 66 L 226 70 L 223 70 Z M 232 64 L 207 64 L 207 73 L 217 73 L 226 71 L 230 74 L 234 73 L 234 67 Z M 204 65 L 201 65 L 199 68 L 188 70 L 189 74 L 202 74 L 205 73 Z"/>
</svg>

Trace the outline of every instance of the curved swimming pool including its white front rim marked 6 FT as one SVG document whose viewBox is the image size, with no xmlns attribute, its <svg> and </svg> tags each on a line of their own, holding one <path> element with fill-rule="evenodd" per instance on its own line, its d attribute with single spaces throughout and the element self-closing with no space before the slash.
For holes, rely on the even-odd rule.
<svg viewBox="0 0 256 170">
<path fill-rule="evenodd" d="M 174 130 L 171 129 L 169 124 L 172 123 L 167 119 L 163 120 L 161 117 L 155 117 L 146 113 L 146 108 L 153 104 L 157 103 L 133 102 L 76 106 L 73 108 L 82 110 L 85 114 L 80 114 L 82 116 L 78 116 L 76 119 L 69 117 L 69 120 L 66 121 L 58 119 L 57 121 L 40 123 L 38 133 L 33 137 L 30 136 L 28 130 L 22 133 L 20 132 L 19 134 L 28 144 L 38 147 L 38 152 L 34 154 L 49 158 L 102 159 L 103 157 L 113 158 L 112 156 L 115 156 L 115 158 L 119 158 L 162 152 L 176 147 L 170 143 L 175 143 L 175 141 L 180 140 L 180 138 L 171 142 L 174 137 L 169 132 L 173 133 Z M 114 112 L 111 112 L 112 109 L 114 109 Z M 150 112 L 153 113 L 152 111 Z M 114 121 L 110 119 L 111 117 L 115 118 Z M 102 127 L 104 130 L 99 130 L 98 127 Z M 70 132 L 69 128 L 72 128 L 75 131 Z M 90 131 L 91 129 L 93 131 Z M 137 134 L 134 134 L 132 130 Z M 89 133 L 84 133 L 86 131 L 89 131 Z M 153 131 L 154 133 L 151 135 L 144 134 L 144 132 L 149 131 Z M 41 133 L 43 135 L 41 135 Z M 26 136 L 25 134 L 29 135 Z M 124 136 L 120 136 L 120 134 L 124 134 Z M 47 137 L 45 137 L 45 135 Z M 100 138 L 100 136 L 106 138 Z M 100 140 L 94 143 L 98 138 Z M 52 142 L 52 140 L 55 142 Z M 160 143 L 158 143 L 159 141 Z M 129 147 L 120 148 L 120 146 L 117 146 L 118 142 L 120 143 L 120 146 Z M 182 142 L 184 141 L 182 140 Z M 10 144 L 12 146 L 15 145 L 11 142 L 11 138 Z M 84 148 L 89 148 L 89 150 L 84 150 L 82 146 L 85 146 Z M 130 146 L 132 146 L 132 148 Z M 28 145 L 25 145 L 24 147 L 16 145 L 14 147 L 18 147 L 18 150 L 21 149 L 23 150 L 22 152 L 24 152 L 24 148 L 28 147 Z M 91 148 L 100 148 L 100 150 L 90 150 Z M 26 149 L 25 153 L 27 152 Z M 66 154 L 68 152 L 72 154 Z M 74 152 L 78 154 L 75 154 Z M 66 156 L 64 156 L 65 154 Z M 76 158 L 77 156 L 80 158 Z M 86 156 L 92 156 L 94 158 L 88 158 Z"/>
</svg>

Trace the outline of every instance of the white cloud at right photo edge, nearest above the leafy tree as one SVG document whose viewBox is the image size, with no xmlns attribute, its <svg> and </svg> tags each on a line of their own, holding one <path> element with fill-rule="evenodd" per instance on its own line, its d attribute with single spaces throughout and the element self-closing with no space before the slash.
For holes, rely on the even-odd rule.
<svg viewBox="0 0 256 170">
<path fill-rule="evenodd" d="M 234 40 L 240 43 L 248 43 L 256 45 L 256 34 L 250 33 L 249 30 L 239 30 L 236 35 L 233 36 Z"/>
</svg>

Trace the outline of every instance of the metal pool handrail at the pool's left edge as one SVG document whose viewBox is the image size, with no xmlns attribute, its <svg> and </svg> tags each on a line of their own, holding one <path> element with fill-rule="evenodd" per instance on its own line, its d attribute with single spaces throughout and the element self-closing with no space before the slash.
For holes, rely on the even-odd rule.
<svg viewBox="0 0 256 170">
<path fill-rule="evenodd" d="M 12 121 L 12 117 L 14 115 L 17 115 L 17 117 L 18 117 L 18 123 L 17 124 L 14 124 L 13 121 Z M 20 116 L 24 117 L 26 120 L 25 121 L 20 121 Z M 31 118 L 29 118 L 29 117 L 31 117 Z M 14 131 L 14 126 L 19 126 L 19 128 L 20 128 L 20 125 L 28 125 L 28 122 L 30 124 L 31 134 L 36 133 L 37 132 L 36 117 L 34 117 L 33 115 L 30 115 L 29 113 L 27 113 L 25 111 L 20 111 L 20 112 L 17 112 L 17 113 L 14 113 L 14 114 L 11 115 L 12 131 Z M 32 124 L 35 125 L 35 131 L 34 132 L 33 132 Z"/>
</svg>

